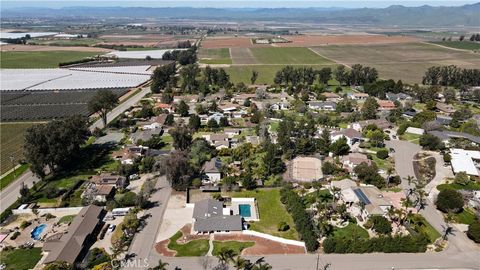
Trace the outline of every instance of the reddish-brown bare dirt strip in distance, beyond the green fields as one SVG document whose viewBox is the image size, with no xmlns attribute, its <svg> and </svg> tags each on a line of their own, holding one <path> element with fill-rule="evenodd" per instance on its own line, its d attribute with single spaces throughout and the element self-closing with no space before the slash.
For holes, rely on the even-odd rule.
<svg viewBox="0 0 480 270">
<path fill-rule="evenodd" d="M 275 47 L 310 47 L 332 44 L 381 44 L 414 42 L 418 39 L 402 36 L 384 35 L 303 35 L 287 36 L 290 43 L 277 43 Z"/>
</svg>

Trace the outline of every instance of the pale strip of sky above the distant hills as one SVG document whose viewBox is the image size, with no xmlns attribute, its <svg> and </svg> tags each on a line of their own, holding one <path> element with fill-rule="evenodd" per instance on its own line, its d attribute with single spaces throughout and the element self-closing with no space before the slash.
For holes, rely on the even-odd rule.
<svg viewBox="0 0 480 270">
<path fill-rule="evenodd" d="M 123 7 L 250 7 L 250 8 L 279 8 L 279 7 L 343 7 L 343 8 L 384 8 L 390 5 L 404 5 L 404 6 L 461 6 L 465 4 L 473 4 L 477 1 L 463 1 L 463 0 L 430 0 L 430 1 L 384 1 L 384 0 L 337 0 L 337 1 L 291 1 L 291 0 L 176 0 L 176 1 L 158 1 L 158 0 L 1 0 L 1 8 L 12 7 L 48 7 L 61 8 L 69 6 L 123 6 Z"/>
</svg>

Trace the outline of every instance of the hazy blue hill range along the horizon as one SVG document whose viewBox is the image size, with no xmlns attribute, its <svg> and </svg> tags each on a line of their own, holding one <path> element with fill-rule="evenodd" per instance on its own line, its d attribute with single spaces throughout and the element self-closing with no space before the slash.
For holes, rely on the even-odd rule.
<svg viewBox="0 0 480 270">
<path fill-rule="evenodd" d="M 287 21 L 398 26 L 480 26 L 480 3 L 459 7 L 387 8 L 148 8 L 66 7 L 2 9 L 3 19 L 22 17 L 157 18 L 222 21 Z"/>
</svg>

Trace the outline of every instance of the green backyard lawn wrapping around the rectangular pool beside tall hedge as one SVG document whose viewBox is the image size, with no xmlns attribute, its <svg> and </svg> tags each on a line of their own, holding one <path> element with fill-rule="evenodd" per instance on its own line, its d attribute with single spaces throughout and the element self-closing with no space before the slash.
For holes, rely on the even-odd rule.
<svg viewBox="0 0 480 270">
<path fill-rule="evenodd" d="M 280 202 L 280 189 L 257 189 L 251 191 L 229 192 L 225 194 L 232 197 L 254 197 L 257 199 L 260 221 L 253 222 L 250 229 L 287 239 L 298 240 L 292 216 Z M 285 221 L 290 226 L 286 232 L 279 232 L 277 226 Z"/>
</svg>

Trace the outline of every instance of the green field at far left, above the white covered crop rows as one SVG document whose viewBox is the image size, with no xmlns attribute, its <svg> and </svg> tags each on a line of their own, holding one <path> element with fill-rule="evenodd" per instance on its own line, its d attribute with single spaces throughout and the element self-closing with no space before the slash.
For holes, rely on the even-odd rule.
<svg viewBox="0 0 480 270">
<path fill-rule="evenodd" d="M 59 63 L 94 56 L 96 52 L 1 52 L 1 68 L 56 68 Z"/>
</svg>

